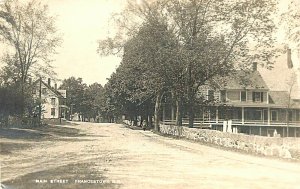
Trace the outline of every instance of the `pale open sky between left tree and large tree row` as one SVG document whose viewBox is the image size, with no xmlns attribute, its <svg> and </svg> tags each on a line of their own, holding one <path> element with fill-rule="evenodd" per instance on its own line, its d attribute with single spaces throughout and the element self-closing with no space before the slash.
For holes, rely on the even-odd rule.
<svg viewBox="0 0 300 189">
<path fill-rule="evenodd" d="M 53 66 L 58 79 L 71 76 L 83 82 L 104 85 L 121 58 L 101 57 L 97 41 L 109 35 L 111 14 L 120 12 L 124 0 L 47 0 L 50 14 L 56 16 L 56 26 L 63 43 L 57 48 Z"/>
</svg>

